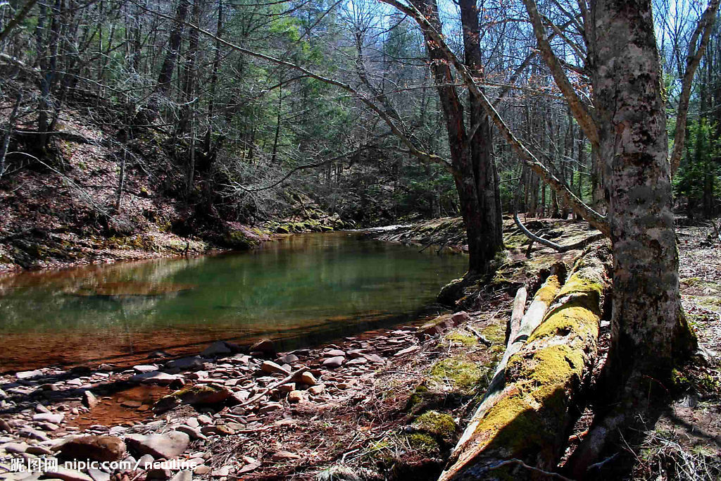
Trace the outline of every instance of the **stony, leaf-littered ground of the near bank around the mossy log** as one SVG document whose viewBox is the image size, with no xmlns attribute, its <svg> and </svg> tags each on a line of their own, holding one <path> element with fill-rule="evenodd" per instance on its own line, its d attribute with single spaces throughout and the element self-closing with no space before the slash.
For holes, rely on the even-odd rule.
<svg viewBox="0 0 721 481">
<path fill-rule="evenodd" d="M 457 221 L 427 224 L 446 231 L 451 229 L 448 222 Z M 441 225 L 446 229 L 438 229 Z M 582 223 L 550 219 L 528 226 L 561 244 L 590 232 Z M 420 246 L 432 240 L 423 227 L 412 231 L 425 232 L 423 239 L 415 236 Z M 405 235 L 404 242 L 412 242 L 414 235 Z M 670 387 L 673 402 L 640 444 L 616 446 L 619 459 L 630 456 L 635 462 L 631 472 L 614 479 L 721 475 L 720 253 L 703 229 L 683 228 L 678 235 L 684 307 L 707 361 L 678 369 L 677 385 Z M 526 284 L 532 294 L 544 270 L 558 261 L 570 265 L 580 254 L 559 255 L 538 246 L 529 250 L 508 221 L 506 239 L 508 262 L 490 283 L 466 289 L 464 312 L 293 353 L 273 353 L 269 345 L 247 353 L 221 342 L 180 361 L 152 358 L 140 366 L 48 367 L 2 376 L 5 424 L 0 430 L 10 432 L 0 437 L 0 466 L 12 457 L 57 456 L 53 446 L 79 433 L 126 439 L 155 433 L 179 451 L 157 453 L 141 440 L 132 446 L 128 442 L 131 454 L 193 460 L 199 464 L 193 477 L 200 479 L 435 479 L 503 355 L 516 288 Z M 608 337 L 604 321 L 601 345 L 604 340 L 607 345 Z M 288 380 L 288 373 L 303 367 L 309 369 L 306 376 Z M 193 399 L 183 398 L 193 404 L 181 402 L 155 413 L 154 403 L 181 384 L 198 386 Z M 95 394 L 97 405 L 88 402 L 85 391 Z M 227 396 L 221 402 L 213 397 L 218 391 Z M 583 438 L 592 415 L 589 408 L 570 433 L 569 449 Z M 178 439 L 179 431 L 190 436 L 190 443 Z M 60 456 L 78 454 L 68 446 L 59 448 Z M 619 463 L 606 467 L 614 464 Z M 112 475 L 115 481 L 138 481 L 176 475 L 141 468 L 88 474 L 65 473 L 63 479 L 107 481 Z M 26 476 L 0 475 L 12 480 Z"/>
</svg>

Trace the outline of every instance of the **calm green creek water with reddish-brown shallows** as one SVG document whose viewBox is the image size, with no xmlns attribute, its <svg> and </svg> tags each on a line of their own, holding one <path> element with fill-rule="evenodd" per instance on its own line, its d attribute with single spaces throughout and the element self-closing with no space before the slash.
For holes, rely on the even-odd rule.
<svg viewBox="0 0 721 481">
<path fill-rule="evenodd" d="M 0 371 L 199 353 L 213 340 L 322 343 L 417 319 L 464 255 L 335 232 L 226 255 L 0 278 Z"/>
</svg>

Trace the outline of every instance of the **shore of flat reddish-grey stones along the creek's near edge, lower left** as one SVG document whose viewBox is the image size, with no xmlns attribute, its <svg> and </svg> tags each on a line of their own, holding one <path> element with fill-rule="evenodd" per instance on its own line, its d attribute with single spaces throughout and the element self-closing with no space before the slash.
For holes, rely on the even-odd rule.
<svg viewBox="0 0 721 481">
<path fill-rule="evenodd" d="M 366 412 L 363 401 L 378 401 L 377 393 L 370 393 L 379 379 L 386 376 L 387 381 L 396 372 L 409 373 L 403 382 L 413 379 L 407 369 L 428 356 L 433 345 L 421 341 L 438 340 L 469 319 L 465 312 L 446 314 L 421 326 L 367 332 L 288 353 L 275 353 L 270 340 L 246 352 L 218 341 L 198 356 L 154 358 L 128 369 L 102 364 L 2 376 L 0 478 L 273 479 L 290 467 L 323 464 L 335 453 L 319 449 L 320 439 L 310 442 L 327 436 L 314 420 L 324 418 L 322 423 L 346 431 L 344 436 L 355 430 L 357 424 L 347 423 L 358 412 L 349 416 L 348 410 L 355 406 Z M 464 343 L 476 342 L 472 332 L 466 337 Z M 443 379 L 450 378 L 443 374 Z M 133 396 L 138 389 L 144 396 Z M 395 401 L 407 403 L 414 392 L 405 389 Z M 25 465 L 43 460 L 43 466 L 59 459 L 60 468 L 17 472 L 13 459 Z M 118 469 L 63 468 L 69 460 L 124 463 Z M 158 467 L 157 462 L 171 463 Z M 189 465 L 194 468 L 166 467 Z"/>
</svg>

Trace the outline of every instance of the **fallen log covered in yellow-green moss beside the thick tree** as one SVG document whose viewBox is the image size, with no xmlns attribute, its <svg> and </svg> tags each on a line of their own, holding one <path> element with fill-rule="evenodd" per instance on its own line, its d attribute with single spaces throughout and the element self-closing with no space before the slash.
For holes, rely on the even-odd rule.
<svg viewBox="0 0 721 481">
<path fill-rule="evenodd" d="M 521 464 L 556 467 L 578 415 L 573 399 L 596 357 L 606 272 L 592 250 L 559 290 L 549 276 L 534 298 L 536 303 L 550 295 L 548 312 L 530 332 L 522 321 L 518 335 L 508 340 L 507 366 L 503 369 L 502 361 L 440 480 L 524 479 L 535 473 Z M 528 312 L 526 323 L 532 320 L 527 317 Z M 510 459 L 522 463 L 509 464 Z"/>
</svg>

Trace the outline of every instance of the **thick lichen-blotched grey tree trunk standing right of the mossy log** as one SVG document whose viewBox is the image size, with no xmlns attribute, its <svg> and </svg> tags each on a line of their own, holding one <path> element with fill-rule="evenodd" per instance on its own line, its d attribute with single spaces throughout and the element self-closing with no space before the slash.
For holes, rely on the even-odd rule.
<svg viewBox="0 0 721 481">
<path fill-rule="evenodd" d="M 614 254 L 609 411 L 575 453 L 575 477 L 606 441 L 647 418 L 671 368 L 694 346 L 681 312 L 662 79 L 651 0 L 596 0 L 593 92 Z M 660 391 L 660 389 L 659 389 Z"/>
</svg>

